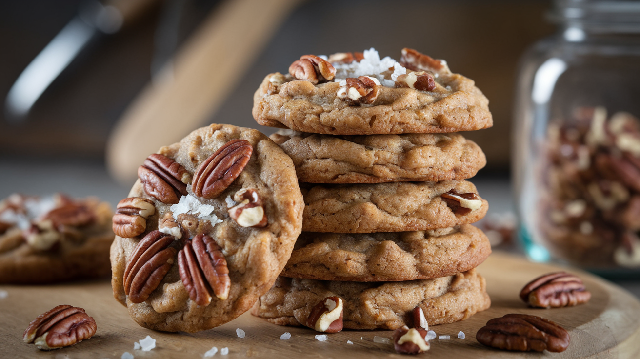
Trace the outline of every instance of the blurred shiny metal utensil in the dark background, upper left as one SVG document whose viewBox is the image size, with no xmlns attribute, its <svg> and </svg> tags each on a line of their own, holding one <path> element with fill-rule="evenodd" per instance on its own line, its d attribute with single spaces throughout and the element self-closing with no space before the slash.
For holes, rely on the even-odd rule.
<svg viewBox="0 0 640 359">
<path fill-rule="evenodd" d="M 4 102 L 10 122 L 23 122 L 29 110 L 61 72 L 98 35 L 116 33 L 124 22 L 156 0 L 97 0 L 83 3 L 78 15 L 22 71 Z"/>
</svg>

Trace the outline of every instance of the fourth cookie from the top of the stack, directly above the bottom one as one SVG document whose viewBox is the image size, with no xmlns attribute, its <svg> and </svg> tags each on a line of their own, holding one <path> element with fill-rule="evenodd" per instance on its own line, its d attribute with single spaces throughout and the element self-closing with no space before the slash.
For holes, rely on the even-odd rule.
<svg viewBox="0 0 640 359">
<path fill-rule="evenodd" d="M 491 253 L 478 228 L 415 232 L 302 232 L 280 275 L 317 280 L 397 282 L 438 278 L 479 266 Z"/>
</svg>

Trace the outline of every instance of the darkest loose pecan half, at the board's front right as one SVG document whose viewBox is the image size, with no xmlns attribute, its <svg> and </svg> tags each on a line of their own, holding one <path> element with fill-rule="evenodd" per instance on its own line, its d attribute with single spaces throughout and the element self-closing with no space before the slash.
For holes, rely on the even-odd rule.
<svg viewBox="0 0 640 359">
<path fill-rule="evenodd" d="M 536 315 L 507 314 L 486 322 L 476 333 L 485 346 L 515 351 L 560 352 L 569 346 L 569 333 L 558 324 Z"/>
</svg>

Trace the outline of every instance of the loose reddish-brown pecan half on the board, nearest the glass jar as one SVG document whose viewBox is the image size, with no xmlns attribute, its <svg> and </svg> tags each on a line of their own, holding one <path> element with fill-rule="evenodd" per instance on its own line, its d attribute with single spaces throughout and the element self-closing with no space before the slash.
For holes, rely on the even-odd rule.
<svg viewBox="0 0 640 359">
<path fill-rule="evenodd" d="M 582 280 L 565 272 L 539 276 L 520 291 L 520 299 L 540 308 L 572 307 L 590 298 L 591 293 L 584 288 Z"/>
</svg>

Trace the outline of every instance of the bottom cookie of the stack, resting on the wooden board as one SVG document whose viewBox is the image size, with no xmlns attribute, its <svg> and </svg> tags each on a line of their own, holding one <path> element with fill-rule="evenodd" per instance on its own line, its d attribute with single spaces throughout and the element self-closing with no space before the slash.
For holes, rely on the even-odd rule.
<svg viewBox="0 0 640 359">
<path fill-rule="evenodd" d="M 278 325 L 307 323 L 311 309 L 324 298 L 342 299 L 345 329 L 395 330 L 412 326 L 420 307 L 429 325 L 454 323 L 490 307 L 484 278 L 475 269 L 453 276 L 410 282 L 332 282 L 279 277 L 260 297 L 252 314 Z"/>
</svg>

